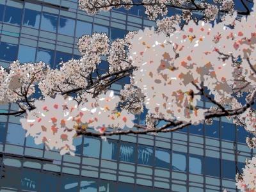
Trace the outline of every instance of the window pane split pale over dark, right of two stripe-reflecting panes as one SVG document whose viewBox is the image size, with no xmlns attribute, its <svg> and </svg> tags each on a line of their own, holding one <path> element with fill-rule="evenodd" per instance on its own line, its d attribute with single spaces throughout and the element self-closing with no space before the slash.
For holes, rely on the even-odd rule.
<svg viewBox="0 0 256 192">
<path fill-rule="evenodd" d="M 155 156 L 156 166 L 166 169 L 170 168 L 170 150 L 156 148 Z"/>
</svg>

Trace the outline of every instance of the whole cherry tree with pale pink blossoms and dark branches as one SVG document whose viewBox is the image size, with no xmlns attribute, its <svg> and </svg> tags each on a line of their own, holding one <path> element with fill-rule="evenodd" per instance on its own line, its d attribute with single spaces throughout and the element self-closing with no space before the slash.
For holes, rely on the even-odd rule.
<svg viewBox="0 0 256 192">
<path fill-rule="evenodd" d="M 172 132 L 211 124 L 221 116 L 255 134 L 256 6 L 250 12 L 241 2 L 246 12 L 235 11 L 231 0 L 81 0 L 79 7 L 90 14 L 139 5 L 145 6 L 149 19 L 165 16 L 168 8 L 180 8 L 182 14 L 157 20 L 156 29 L 131 31 L 113 42 L 105 33 L 84 35 L 78 42 L 81 59 L 60 63 L 59 69 L 42 61 L 18 60 L 1 67 L 0 103 L 17 103 L 20 109 L 0 115 L 24 115 L 20 122 L 26 136 L 72 155 L 73 140 L 81 135 Z M 196 19 L 195 12 L 203 17 Z M 218 14 L 221 22 L 215 20 Z M 109 70 L 100 74 L 103 57 Z M 130 83 L 115 94 L 111 85 L 124 77 Z M 198 107 L 202 99 L 214 107 Z M 144 108 L 145 124 L 138 124 L 136 116 Z M 255 138 L 246 141 L 256 146 Z M 237 188 L 256 190 L 253 169 L 255 157 L 237 175 Z"/>
</svg>

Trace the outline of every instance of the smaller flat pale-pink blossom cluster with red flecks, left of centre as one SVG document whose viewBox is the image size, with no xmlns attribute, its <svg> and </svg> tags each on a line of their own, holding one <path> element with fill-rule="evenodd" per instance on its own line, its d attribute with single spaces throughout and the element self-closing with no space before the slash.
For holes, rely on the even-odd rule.
<svg viewBox="0 0 256 192">
<path fill-rule="evenodd" d="M 70 153 L 74 156 L 73 139 L 77 129 L 93 127 L 102 133 L 108 127 L 133 127 L 134 115 L 125 109 L 118 111 L 116 104 L 119 101 L 113 91 L 97 98 L 90 97 L 79 105 L 72 97 L 45 97 L 36 100 L 35 109 L 27 111 L 26 118 L 21 118 L 20 122 L 27 131 L 26 136 L 35 138 L 36 144 L 44 143 L 48 149 L 60 150 L 61 155 Z"/>
</svg>

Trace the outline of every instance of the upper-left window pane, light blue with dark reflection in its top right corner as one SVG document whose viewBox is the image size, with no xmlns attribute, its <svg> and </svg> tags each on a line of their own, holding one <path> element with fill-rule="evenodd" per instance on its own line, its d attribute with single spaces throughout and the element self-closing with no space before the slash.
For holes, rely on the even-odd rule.
<svg viewBox="0 0 256 192">
<path fill-rule="evenodd" d="M 58 16 L 50 13 L 43 13 L 41 20 L 41 29 L 56 33 Z"/>
</svg>

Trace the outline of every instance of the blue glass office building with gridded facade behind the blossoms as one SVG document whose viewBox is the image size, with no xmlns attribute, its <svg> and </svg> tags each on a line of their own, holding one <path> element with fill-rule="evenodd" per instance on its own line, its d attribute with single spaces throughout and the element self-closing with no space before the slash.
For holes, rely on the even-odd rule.
<svg viewBox="0 0 256 192">
<path fill-rule="evenodd" d="M 76 44 L 84 34 L 105 32 L 113 40 L 155 26 L 143 12 L 134 7 L 92 17 L 77 10 L 77 0 L 0 0 L 0 63 L 42 60 L 58 68 L 79 58 Z M 108 63 L 99 68 L 104 72 Z M 127 81 L 111 88 L 118 93 Z M 0 106 L 2 113 L 17 109 Z M 144 117 L 138 117 L 142 124 Z M 0 116 L 0 191 L 236 191 L 236 172 L 254 154 L 245 143 L 248 132 L 227 118 L 157 136 L 77 138 L 74 157 L 25 138 L 19 118 Z"/>
</svg>

